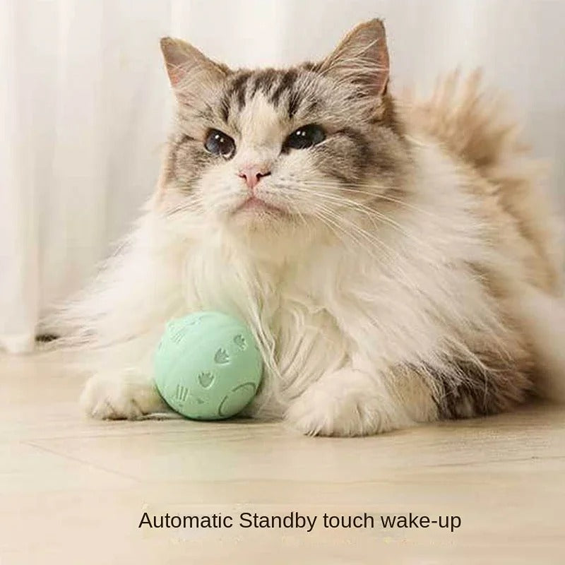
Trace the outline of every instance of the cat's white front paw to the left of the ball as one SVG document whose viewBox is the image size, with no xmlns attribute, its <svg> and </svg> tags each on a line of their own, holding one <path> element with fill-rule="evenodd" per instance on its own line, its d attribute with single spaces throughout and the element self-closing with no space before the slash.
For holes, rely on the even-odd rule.
<svg viewBox="0 0 565 565">
<path fill-rule="evenodd" d="M 88 379 L 81 394 L 81 406 L 97 420 L 141 420 L 170 409 L 152 380 L 131 371 L 96 374 Z"/>
</svg>

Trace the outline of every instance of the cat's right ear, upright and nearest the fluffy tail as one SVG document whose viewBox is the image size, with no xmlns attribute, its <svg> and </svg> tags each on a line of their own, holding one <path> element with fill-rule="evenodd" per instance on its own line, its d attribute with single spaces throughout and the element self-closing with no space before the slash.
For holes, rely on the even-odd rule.
<svg viewBox="0 0 565 565">
<path fill-rule="evenodd" d="M 388 49 L 381 20 L 353 28 L 321 64 L 321 72 L 358 85 L 363 93 L 381 96 L 388 84 Z"/>
</svg>

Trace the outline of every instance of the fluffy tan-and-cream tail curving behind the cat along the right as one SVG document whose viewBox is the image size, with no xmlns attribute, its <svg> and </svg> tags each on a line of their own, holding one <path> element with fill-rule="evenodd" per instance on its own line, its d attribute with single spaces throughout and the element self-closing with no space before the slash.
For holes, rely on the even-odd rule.
<svg viewBox="0 0 565 565">
<path fill-rule="evenodd" d="M 408 124 L 487 179 L 491 195 L 540 259 L 529 284 L 507 281 L 508 290 L 537 357 L 540 395 L 565 402 L 564 237 L 558 207 L 545 190 L 547 165 L 531 157 L 521 126 L 509 117 L 504 97 L 484 88 L 480 70 L 467 78 L 452 73 L 427 100 L 413 93 L 403 100 Z"/>
</svg>

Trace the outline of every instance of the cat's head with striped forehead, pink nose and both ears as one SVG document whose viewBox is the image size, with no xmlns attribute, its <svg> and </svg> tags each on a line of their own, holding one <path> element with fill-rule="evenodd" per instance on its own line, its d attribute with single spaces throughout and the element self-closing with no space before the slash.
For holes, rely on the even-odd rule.
<svg viewBox="0 0 565 565">
<path fill-rule="evenodd" d="M 232 71 L 186 42 L 161 47 L 177 99 L 158 195 L 167 214 L 236 235 L 311 232 L 402 184 L 381 20 L 284 70 Z"/>
</svg>

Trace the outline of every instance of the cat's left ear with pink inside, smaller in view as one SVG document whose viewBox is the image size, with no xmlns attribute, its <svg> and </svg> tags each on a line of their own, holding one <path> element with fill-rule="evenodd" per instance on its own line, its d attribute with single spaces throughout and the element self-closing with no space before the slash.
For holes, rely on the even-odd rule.
<svg viewBox="0 0 565 565">
<path fill-rule="evenodd" d="M 203 95 L 203 89 L 220 83 L 230 69 L 220 65 L 191 44 L 162 37 L 161 51 L 174 93 L 180 99 Z"/>
</svg>

